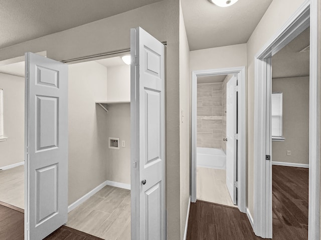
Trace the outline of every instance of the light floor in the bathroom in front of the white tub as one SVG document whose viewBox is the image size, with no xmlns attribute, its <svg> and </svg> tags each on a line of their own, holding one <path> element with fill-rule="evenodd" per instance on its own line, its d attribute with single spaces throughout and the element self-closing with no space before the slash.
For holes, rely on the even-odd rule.
<svg viewBox="0 0 321 240">
<path fill-rule="evenodd" d="M 226 170 L 198 166 L 196 175 L 197 199 L 237 207 L 226 186 Z"/>
</svg>

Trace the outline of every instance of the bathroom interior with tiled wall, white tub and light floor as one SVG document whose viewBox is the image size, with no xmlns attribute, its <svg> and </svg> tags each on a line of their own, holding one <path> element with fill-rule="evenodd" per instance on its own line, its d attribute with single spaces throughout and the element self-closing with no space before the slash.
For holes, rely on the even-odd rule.
<svg viewBox="0 0 321 240">
<path fill-rule="evenodd" d="M 226 89 L 232 76 L 197 77 L 197 199 L 236 207 L 226 186 Z"/>
</svg>

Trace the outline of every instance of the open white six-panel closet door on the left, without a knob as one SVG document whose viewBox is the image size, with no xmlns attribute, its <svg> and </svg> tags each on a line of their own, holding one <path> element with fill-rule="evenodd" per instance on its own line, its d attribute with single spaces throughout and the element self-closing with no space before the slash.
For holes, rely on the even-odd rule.
<svg viewBox="0 0 321 240">
<path fill-rule="evenodd" d="M 25 240 L 38 240 L 67 222 L 68 66 L 25 56 Z"/>
</svg>

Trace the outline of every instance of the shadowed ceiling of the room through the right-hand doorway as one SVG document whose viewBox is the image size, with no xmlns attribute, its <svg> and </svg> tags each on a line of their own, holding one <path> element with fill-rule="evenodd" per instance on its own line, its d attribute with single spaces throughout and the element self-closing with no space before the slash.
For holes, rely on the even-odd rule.
<svg viewBox="0 0 321 240">
<path fill-rule="evenodd" d="M 303 51 L 310 44 L 310 28 L 305 29 L 280 51 L 272 56 L 272 77 L 308 76 L 310 52 Z"/>
</svg>

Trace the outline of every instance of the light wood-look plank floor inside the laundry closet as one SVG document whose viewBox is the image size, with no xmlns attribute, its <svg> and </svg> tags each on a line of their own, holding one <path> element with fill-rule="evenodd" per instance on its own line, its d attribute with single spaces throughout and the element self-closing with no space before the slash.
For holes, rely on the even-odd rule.
<svg viewBox="0 0 321 240">
<path fill-rule="evenodd" d="M 130 190 L 105 186 L 69 212 L 66 225 L 106 240 L 130 240 Z"/>
</svg>

